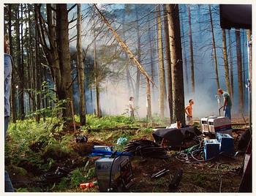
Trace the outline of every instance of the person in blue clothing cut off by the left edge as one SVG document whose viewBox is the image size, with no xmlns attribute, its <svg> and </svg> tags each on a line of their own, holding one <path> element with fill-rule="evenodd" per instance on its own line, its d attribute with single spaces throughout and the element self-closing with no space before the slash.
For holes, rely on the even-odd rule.
<svg viewBox="0 0 256 196">
<path fill-rule="evenodd" d="M 12 56 L 7 54 L 7 42 L 4 37 L 4 140 L 10 118 L 10 84 L 12 77 Z M 9 174 L 4 170 L 4 191 L 14 192 Z"/>
</svg>

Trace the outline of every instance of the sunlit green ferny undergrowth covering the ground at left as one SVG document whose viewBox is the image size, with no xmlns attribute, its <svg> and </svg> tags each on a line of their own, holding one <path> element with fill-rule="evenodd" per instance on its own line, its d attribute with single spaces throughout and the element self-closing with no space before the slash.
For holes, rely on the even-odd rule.
<svg viewBox="0 0 256 196">
<path fill-rule="evenodd" d="M 75 116 L 75 120 L 79 121 L 79 116 Z M 138 129 L 129 129 L 132 127 L 138 127 Z M 108 130 L 99 131 L 104 128 Z M 97 118 L 94 115 L 87 115 L 86 126 L 80 127 L 78 132 L 73 132 L 72 126 L 65 128 L 64 121 L 59 121 L 58 118 L 45 118 L 45 121 L 40 123 L 32 119 L 17 121 L 15 124 L 11 123 L 8 129 L 4 149 L 5 167 L 11 178 L 33 181 L 44 173 L 54 172 L 57 167 L 72 165 L 72 172 L 67 177 L 61 178 L 58 184 L 51 184 L 44 188 L 34 185 L 21 186 L 16 191 L 79 192 L 77 189 L 80 183 L 94 181 L 96 176 L 94 163 L 89 162 L 88 157 L 78 153 L 77 148 L 81 148 L 79 151 L 86 148 L 83 144 L 75 143 L 76 136 L 86 135 L 89 138 L 86 145 L 102 142 L 114 146 L 115 150 L 122 151 L 129 140 L 150 139 L 151 132 L 151 128 L 145 127 L 145 121 L 137 119 L 132 122 L 126 116 Z M 118 138 L 124 138 L 124 142 L 117 144 Z M 95 192 L 97 189 L 88 191 Z"/>
</svg>

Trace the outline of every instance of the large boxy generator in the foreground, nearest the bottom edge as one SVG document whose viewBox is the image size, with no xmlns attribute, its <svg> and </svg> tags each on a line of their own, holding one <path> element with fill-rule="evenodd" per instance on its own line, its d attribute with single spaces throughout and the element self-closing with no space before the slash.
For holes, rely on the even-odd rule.
<svg viewBox="0 0 256 196">
<path fill-rule="evenodd" d="M 95 162 L 99 192 L 126 192 L 132 185 L 132 165 L 127 156 L 103 157 Z"/>
</svg>

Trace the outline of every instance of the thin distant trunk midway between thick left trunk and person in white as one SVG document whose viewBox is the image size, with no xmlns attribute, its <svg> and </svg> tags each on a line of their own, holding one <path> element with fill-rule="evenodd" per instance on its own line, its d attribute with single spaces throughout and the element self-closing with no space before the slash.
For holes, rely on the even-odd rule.
<svg viewBox="0 0 256 196">
<path fill-rule="evenodd" d="M 95 72 L 95 88 L 96 88 L 96 116 L 102 117 L 99 98 L 99 68 L 97 64 L 96 37 L 94 37 L 94 72 Z"/>
</svg>

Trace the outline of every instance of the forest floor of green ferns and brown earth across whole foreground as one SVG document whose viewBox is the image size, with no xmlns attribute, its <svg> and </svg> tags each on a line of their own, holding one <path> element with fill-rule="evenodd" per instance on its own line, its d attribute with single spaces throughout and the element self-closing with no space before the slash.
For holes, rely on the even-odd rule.
<svg viewBox="0 0 256 196">
<path fill-rule="evenodd" d="M 154 140 L 151 135 L 153 129 L 146 128 L 143 121 L 130 123 L 129 118 L 118 116 L 102 119 L 89 116 L 87 119 L 89 125 L 78 127 L 76 132 L 72 125 L 64 129 L 61 122 L 53 119 L 40 124 L 27 120 L 10 125 L 5 145 L 5 166 L 16 192 L 99 192 L 98 186 L 91 189 L 79 187 L 82 182 L 97 181 L 94 170 L 96 158 L 88 157 L 94 145 L 115 146 L 116 150 L 121 151 L 124 146 L 116 144 L 119 137 Z M 154 127 L 166 125 L 166 121 L 157 121 Z M 233 133 L 236 148 L 236 137 L 244 132 L 246 126 L 234 128 L 240 129 Z M 86 135 L 88 142 L 76 143 L 75 137 L 78 135 Z M 243 154 L 188 164 L 176 159 L 176 151 L 169 153 L 173 155 L 169 159 L 133 157 L 131 162 L 135 183 L 129 191 L 169 192 L 168 185 L 177 170 L 183 170 L 183 175 L 175 192 L 238 191 L 241 182 L 238 168 L 244 160 Z M 68 167 L 72 172 L 58 182 L 42 180 L 45 173 L 54 173 L 57 167 Z M 151 178 L 153 173 L 164 168 L 170 170 L 166 176 Z"/>
</svg>

